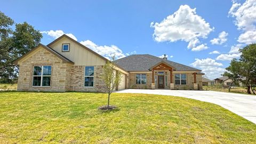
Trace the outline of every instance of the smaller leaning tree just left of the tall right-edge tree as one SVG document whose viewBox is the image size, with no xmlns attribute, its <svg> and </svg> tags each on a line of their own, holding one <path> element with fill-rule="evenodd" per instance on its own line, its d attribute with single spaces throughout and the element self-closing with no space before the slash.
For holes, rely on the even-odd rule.
<svg viewBox="0 0 256 144">
<path fill-rule="evenodd" d="M 241 76 L 241 70 L 242 70 L 241 66 L 242 66 L 242 63 L 240 61 L 237 61 L 237 59 L 233 59 L 230 62 L 230 66 L 226 68 L 226 70 L 228 70 L 228 71 L 225 71 L 225 73 L 223 74 L 223 76 L 227 76 L 232 81 L 231 84 L 228 87 L 229 92 L 230 92 L 230 89 L 231 89 L 231 85 L 235 82 L 238 82 L 239 79 L 242 78 L 242 76 Z"/>
</svg>

